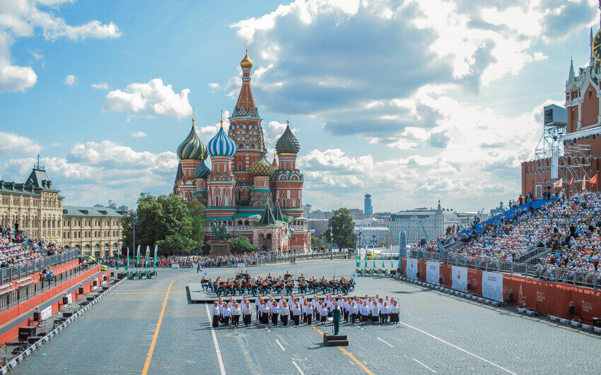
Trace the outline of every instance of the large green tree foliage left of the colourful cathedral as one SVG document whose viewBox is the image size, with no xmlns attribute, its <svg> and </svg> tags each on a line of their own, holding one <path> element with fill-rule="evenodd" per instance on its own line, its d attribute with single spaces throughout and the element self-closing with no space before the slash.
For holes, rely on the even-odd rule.
<svg viewBox="0 0 601 375">
<path fill-rule="evenodd" d="M 134 215 L 122 220 L 122 243 L 134 249 Z M 204 206 L 175 196 L 140 194 L 136 209 L 136 246 L 158 244 L 161 255 L 197 254 L 204 246 Z"/>
</svg>

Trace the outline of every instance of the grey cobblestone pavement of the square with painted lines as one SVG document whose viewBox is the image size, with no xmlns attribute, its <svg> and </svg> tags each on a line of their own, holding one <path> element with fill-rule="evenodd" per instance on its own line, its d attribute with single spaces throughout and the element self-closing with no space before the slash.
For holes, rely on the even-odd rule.
<svg viewBox="0 0 601 375">
<path fill-rule="evenodd" d="M 355 263 L 247 269 L 331 278 L 350 275 Z M 237 271 L 208 270 L 211 278 Z M 331 333 L 330 324 L 263 328 L 253 316 L 250 328 L 213 331 L 209 306 L 188 302 L 186 286 L 199 278 L 195 269 L 168 269 L 156 280 L 124 282 L 14 372 L 140 374 L 151 353 L 150 374 L 601 374 L 597 336 L 390 278 L 358 278 L 351 294 L 397 297 L 402 323 L 342 324 L 350 340 L 344 350 L 322 346 L 320 331 Z"/>
</svg>

